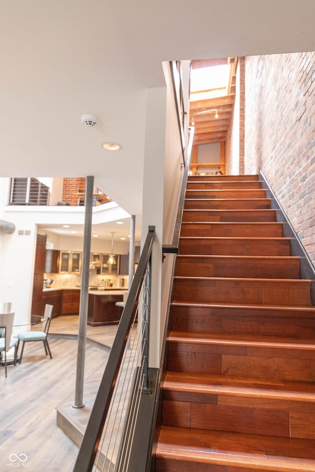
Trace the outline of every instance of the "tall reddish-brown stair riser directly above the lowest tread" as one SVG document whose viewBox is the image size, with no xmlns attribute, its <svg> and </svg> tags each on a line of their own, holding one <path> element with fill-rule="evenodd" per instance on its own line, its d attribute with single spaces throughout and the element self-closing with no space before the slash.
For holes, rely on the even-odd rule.
<svg viewBox="0 0 315 472">
<path fill-rule="evenodd" d="M 163 392 L 163 424 L 315 439 L 315 402 L 238 395 Z M 303 426 L 302 426 L 303 425 Z"/>
</svg>

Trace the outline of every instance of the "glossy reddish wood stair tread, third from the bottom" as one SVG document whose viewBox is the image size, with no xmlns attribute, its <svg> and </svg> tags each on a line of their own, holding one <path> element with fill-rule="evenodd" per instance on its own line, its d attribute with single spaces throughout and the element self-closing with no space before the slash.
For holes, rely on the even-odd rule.
<svg viewBox="0 0 315 472">
<path fill-rule="evenodd" d="M 184 331 L 171 331 L 167 336 L 168 342 L 187 343 L 199 345 L 224 345 L 224 346 L 251 346 L 273 349 L 298 349 L 314 350 L 314 339 L 281 338 L 278 336 L 251 336 L 245 334 L 220 334 L 220 333 L 192 333 Z"/>
</svg>

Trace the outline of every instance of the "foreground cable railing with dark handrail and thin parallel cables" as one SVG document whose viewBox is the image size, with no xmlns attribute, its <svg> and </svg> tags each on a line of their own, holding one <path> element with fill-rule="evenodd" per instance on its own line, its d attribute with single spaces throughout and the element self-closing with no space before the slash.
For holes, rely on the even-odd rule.
<svg viewBox="0 0 315 472">
<path fill-rule="evenodd" d="M 127 471 L 148 356 L 155 227 L 149 226 L 73 472 Z"/>
</svg>

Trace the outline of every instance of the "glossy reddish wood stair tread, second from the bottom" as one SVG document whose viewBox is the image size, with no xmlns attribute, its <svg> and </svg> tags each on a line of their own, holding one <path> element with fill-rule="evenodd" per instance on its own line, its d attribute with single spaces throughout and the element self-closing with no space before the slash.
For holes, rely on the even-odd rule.
<svg viewBox="0 0 315 472">
<path fill-rule="evenodd" d="M 164 390 L 315 402 L 315 383 L 167 371 Z"/>
</svg>

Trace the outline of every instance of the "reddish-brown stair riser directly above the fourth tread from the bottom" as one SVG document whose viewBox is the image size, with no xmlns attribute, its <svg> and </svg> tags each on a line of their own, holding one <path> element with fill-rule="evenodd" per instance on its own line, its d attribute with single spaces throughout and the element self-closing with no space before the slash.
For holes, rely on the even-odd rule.
<svg viewBox="0 0 315 472">
<path fill-rule="evenodd" d="M 175 301 L 311 305 L 309 281 L 176 279 Z"/>
</svg>

